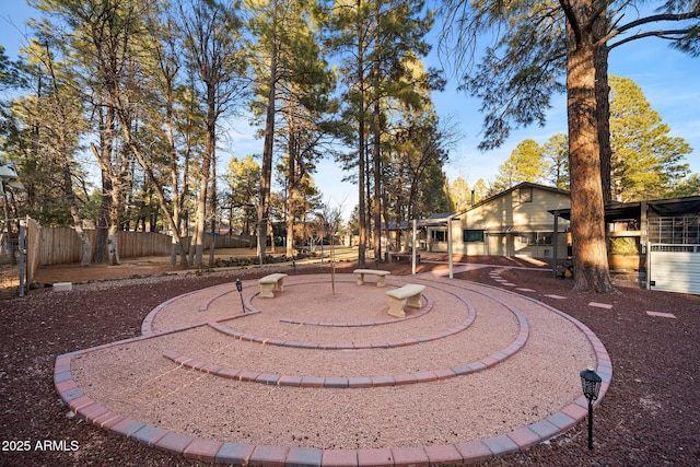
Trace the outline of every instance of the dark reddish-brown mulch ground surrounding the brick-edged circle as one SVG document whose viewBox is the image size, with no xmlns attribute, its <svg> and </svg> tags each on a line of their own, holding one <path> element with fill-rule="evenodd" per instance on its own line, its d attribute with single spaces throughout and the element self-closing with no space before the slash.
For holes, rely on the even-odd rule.
<svg viewBox="0 0 700 467">
<path fill-rule="evenodd" d="M 493 264 L 493 258 L 488 258 Z M 475 259 L 471 259 L 475 260 Z M 525 266 L 504 260 L 504 265 Z M 529 265 L 527 265 L 529 266 Z M 410 273 L 406 264 L 381 265 Z M 421 264 L 419 271 L 432 266 Z M 340 265 L 350 272 L 353 265 Z M 457 279 L 497 285 L 492 268 Z M 325 267 L 300 267 L 318 273 Z M 268 271 L 266 270 L 266 273 Z M 54 388 L 56 355 L 140 335 L 160 303 L 201 288 L 260 277 L 259 269 L 115 280 L 72 292 L 33 291 L 0 301 L 0 465 L 199 466 L 69 418 Z M 595 411 L 594 450 L 585 420 L 546 444 L 485 462 L 486 466 L 673 465 L 700 463 L 700 296 L 620 289 L 619 294 L 575 293 L 551 271 L 503 270 L 501 277 L 588 326 L 612 360 L 612 384 Z M 545 296 L 567 296 L 556 300 Z M 591 306 L 610 304 L 610 310 Z M 646 312 L 673 313 L 676 318 Z M 555 359 L 556 355 L 552 355 Z M 582 369 L 583 370 L 583 369 Z M 578 376 L 575 376 L 578 377 Z M 45 441 L 48 443 L 45 444 Z"/>
</svg>

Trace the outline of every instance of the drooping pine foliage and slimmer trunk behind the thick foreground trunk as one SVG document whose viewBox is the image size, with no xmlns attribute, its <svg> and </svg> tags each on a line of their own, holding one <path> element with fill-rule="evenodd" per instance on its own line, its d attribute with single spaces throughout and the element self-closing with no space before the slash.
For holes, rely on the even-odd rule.
<svg viewBox="0 0 700 467">
<path fill-rule="evenodd" d="M 485 112 L 485 138 L 482 149 L 501 145 L 513 128 L 533 122 L 544 124 L 551 95 L 563 92 L 560 80 L 565 72 L 564 34 L 567 9 L 563 1 L 485 2 L 471 9 L 465 0 L 445 2 L 445 26 L 441 48 L 456 61 L 464 73 L 463 89 L 482 100 Z M 673 47 L 691 56 L 700 54 L 697 0 L 658 2 L 652 8 L 641 3 L 612 1 L 595 3 L 590 26 L 596 38 L 596 118 L 600 148 L 602 183 L 604 199 L 610 199 L 607 67 L 609 51 L 632 40 L 661 37 Z M 645 5 L 643 5 L 645 7 Z M 570 16 L 570 15 L 569 15 Z M 508 17 L 508 20 L 504 20 Z M 482 36 L 464 34 L 466 31 L 483 31 L 503 21 L 509 34 L 500 34 L 486 49 L 478 66 L 474 60 L 477 40 Z M 622 19 L 631 19 L 625 23 Z M 676 24 L 678 26 L 676 27 Z"/>
</svg>

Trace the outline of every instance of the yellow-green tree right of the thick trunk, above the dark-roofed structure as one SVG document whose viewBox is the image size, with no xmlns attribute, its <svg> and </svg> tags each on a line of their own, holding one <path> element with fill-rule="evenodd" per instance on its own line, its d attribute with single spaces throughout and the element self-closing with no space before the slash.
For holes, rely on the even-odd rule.
<svg viewBox="0 0 700 467">
<path fill-rule="evenodd" d="M 681 163 L 692 152 L 682 138 L 668 133 L 630 79 L 610 77 L 610 144 L 612 194 L 618 201 L 641 201 L 673 194 L 689 171 Z"/>
</svg>

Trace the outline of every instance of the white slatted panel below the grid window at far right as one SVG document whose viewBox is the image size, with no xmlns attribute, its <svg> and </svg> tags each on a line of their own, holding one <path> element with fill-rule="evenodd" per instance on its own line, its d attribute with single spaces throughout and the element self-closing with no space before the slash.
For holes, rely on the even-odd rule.
<svg viewBox="0 0 700 467">
<path fill-rule="evenodd" d="M 700 245 L 651 244 L 649 288 L 700 295 Z"/>
</svg>

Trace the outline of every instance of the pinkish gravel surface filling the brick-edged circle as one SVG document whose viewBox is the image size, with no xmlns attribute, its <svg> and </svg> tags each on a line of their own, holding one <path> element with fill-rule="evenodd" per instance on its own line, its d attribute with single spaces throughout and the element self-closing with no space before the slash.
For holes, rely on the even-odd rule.
<svg viewBox="0 0 700 467">
<path fill-rule="evenodd" d="M 198 326 L 77 357 L 71 362 L 72 377 L 92 400 L 116 413 L 176 433 L 256 445 L 358 450 L 456 444 L 538 422 L 580 396 L 576 374 L 595 361 L 588 340 L 573 323 L 505 293 L 499 295 L 528 323 L 527 345 L 511 359 L 468 376 L 372 388 L 298 388 L 206 375 L 163 358 L 174 350 L 217 367 L 288 377 L 398 376 L 479 361 L 505 349 L 521 330 L 510 308 L 483 295 L 495 293 L 490 288 L 410 277 L 411 282 L 424 281 L 424 297 L 434 305 L 425 306 L 419 317 L 418 310 L 409 308 L 408 319 L 395 319 L 387 315 L 385 292 L 406 283 L 407 276 L 390 276 L 386 288 L 358 287 L 353 275 L 337 278 L 332 294 L 327 275 L 289 277 L 284 292 L 276 293 L 275 300 L 253 297 L 261 313 L 228 319 L 221 326 L 265 341 L 346 342 L 362 349 L 241 341 Z M 254 281 L 246 283 L 244 296 L 250 297 L 257 287 Z M 160 308 L 156 320 L 163 329 L 182 329 L 180 316 L 198 316 L 199 323 L 224 310 L 232 316 L 231 305 L 236 303 L 231 296 L 209 302 L 215 291 L 221 288 L 188 294 L 185 303 L 172 301 Z M 448 330 L 467 319 L 469 308 L 451 291 L 476 308 L 474 323 L 453 332 Z M 202 302 L 209 302 L 205 312 L 198 311 Z M 336 326 L 281 322 L 290 317 Z M 384 324 L 341 325 L 348 320 Z M 410 339 L 416 339 L 413 345 L 399 345 Z M 372 342 L 374 348 L 369 348 Z M 551 354 L 558 355 L 556 361 Z"/>
</svg>

